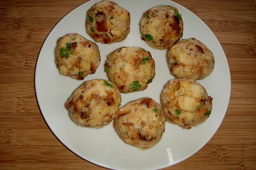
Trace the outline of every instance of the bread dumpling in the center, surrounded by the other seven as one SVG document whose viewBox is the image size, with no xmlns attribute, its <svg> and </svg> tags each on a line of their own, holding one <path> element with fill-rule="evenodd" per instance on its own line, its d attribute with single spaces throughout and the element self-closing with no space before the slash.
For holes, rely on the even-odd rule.
<svg viewBox="0 0 256 170">
<path fill-rule="evenodd" d="M 120 92 L 142 91 L 154 79 L 155 62 L 143 48 L 122 47 L 108 55 L 105 71 Z"/>
</svg>

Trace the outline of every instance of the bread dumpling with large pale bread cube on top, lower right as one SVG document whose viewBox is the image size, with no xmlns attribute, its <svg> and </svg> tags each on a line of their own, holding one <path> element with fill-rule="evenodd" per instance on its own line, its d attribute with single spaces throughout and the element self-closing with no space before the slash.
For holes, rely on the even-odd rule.
<svg viewBox="0 0 256 170">
<path fill-rule="evenodd" d="M 190 129 L 211 114 L 212 97 L 192 79 L 173 79 L 164 86 L 161 103 L 167 121 Z"/>
</svg>

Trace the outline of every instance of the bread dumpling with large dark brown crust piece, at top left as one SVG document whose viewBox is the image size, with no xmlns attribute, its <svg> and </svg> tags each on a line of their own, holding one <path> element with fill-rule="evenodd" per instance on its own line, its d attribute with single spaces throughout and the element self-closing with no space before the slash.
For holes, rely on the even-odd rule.
<svg viewBox="0 0 256 170">
<path fill-rule="evenodd" d="M 86 31 L 104 44 L 121 42 L 130 33 L 130 13 L 117 3 L 103 0 L 87 11 Z"/>
</svg>

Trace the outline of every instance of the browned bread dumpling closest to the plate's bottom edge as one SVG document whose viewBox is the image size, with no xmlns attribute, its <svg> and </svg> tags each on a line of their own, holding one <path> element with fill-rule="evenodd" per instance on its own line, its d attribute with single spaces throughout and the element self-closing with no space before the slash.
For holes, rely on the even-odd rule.
<svg viewBox="0 0 256 170">
<path fill-rule="evenodd" d="M 145 97 L 122 107 L 114 120 L 114 127 L 125 143 L 145 150 L 160 141 L 165 122 L 161 105 Z"/>
</svg>

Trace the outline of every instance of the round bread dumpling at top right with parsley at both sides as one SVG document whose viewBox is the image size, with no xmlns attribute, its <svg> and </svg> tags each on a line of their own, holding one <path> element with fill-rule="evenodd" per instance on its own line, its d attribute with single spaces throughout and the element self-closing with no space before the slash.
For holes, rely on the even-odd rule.
<svg viewBox="0 0 256 170">
<path fill-rule="evenodd" d="M 140 20 L 140 34 L 152 48 L 168 49 L 183 35 L 181 14 L 173 6 L 150 8 Z"/>
</svg>

